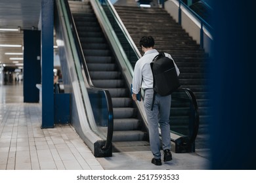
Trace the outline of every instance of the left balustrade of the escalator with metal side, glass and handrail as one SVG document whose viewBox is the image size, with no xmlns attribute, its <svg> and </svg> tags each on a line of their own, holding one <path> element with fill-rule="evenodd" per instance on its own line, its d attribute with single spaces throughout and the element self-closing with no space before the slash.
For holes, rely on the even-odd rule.
<svg viewBox="0 0 256 183">
<path fill-rule="evenodd" d="M 71 125 L 95 157 L 112 156 L 112 99 L 91 84 L 68 1 L 54 1 L 54 30 L 64 92 L 71 95 Z"/>
</svg>

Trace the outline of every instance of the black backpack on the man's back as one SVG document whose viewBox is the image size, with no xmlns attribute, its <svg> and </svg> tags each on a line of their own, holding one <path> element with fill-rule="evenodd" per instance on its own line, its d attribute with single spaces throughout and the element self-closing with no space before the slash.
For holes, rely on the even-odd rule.
<svg viewBox="0 0 256 183">
<path fill-rule="evenodd" d="M 163 52 L 160 52 L 150 63 L 153 74 L 153 88 L 154 88 L 154 98 L 156 93 L 161 96 L 170 95 L 175 90 L 177 90 L 181 84 L 179 82 L 179 76 L 177 75 L 174 61 L 165 56 Z"/>
</svg>

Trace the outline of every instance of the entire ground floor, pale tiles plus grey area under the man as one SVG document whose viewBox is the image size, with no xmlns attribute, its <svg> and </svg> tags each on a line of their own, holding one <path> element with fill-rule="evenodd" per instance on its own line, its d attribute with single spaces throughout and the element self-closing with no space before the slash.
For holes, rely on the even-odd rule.
<svg viewBox="0 0 256 183">
<path fill-rule="evenodd" d="M 209 151 L 173 153 L 161 166 L 150 162 L 150 151 L 95 158 L 71 125 L 41 129 L 41 105 L 23 103 L 22 91 L 22 83 L 0 84 L 0 170 L 209 169 Z"/>
</svg>

